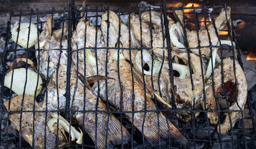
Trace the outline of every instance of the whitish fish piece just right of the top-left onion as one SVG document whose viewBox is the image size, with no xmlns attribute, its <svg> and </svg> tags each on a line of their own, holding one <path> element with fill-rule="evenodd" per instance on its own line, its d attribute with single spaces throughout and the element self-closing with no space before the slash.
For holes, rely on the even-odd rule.
<svg viewBox="0 0 256 149">
<path fill-rule="evenodd" d="M 52 30 L 53 27 L 54 19 L 50 16 L 46 20 L 45 29 L 39 35 L 39 40 L 35 42 L 38 70 L 44 79 L 52 78 L 58 64 L 67 65 L 66 35 L 69 26 L 57 30 Z"/>
</svg>

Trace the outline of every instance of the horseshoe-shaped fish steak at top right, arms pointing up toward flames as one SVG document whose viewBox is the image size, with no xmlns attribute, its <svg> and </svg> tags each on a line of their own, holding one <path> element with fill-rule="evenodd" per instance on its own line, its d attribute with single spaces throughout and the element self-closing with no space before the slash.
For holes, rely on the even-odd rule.
<svg viewBox="0 0 256 149">
<path fill-rule="evenodd" d="M 184 28 L 184 17 L 183 17 L 183 10 L 178 10 L 176 12 L 176 17 L 181 21 L 177 22 L 179 30 L 181 30 L 181 33 L 183 33 L 183 28 Z M 227 13 L 227 14 L 226 14 Z M 227 17 L 226 17 L 227 15 Z M 207 24 L 207 29 L 200 29 L 198 30 L 199 38 L 197 38 L 197 31 L 196 30 L 189 30 L 186 29 L 186 35 L 187 35 L 187 42 L 189 44 L 189 48 L 191 48 L 191 52 L 199 55 L 199 49 L 196 47 L 199 47 L 199 42 L 200 41 L 200 48 L 201 49 L 201 54 L 202 56 L 206 58 L 210 58 L 211 56 L 211 48 L 206 47 L 210 45 L 219 45 L 219 39 L 217 34 L 219 34 L 219 30 L 224 29 L 225 25 L 227 25 L 227 20 L 230 20 L 230 7 L 227 7 L 227 10 L 222 9 L 219 16 L 217 16 L 213 22 L 210 22 Z M 215 27 L 216 29 L 215 29 Z M 217 32 L 217 34 L 216 34 Z M 208 37 L 209 34 L 209 37 Z M 214 50 L 215 48 L 212 48 Z"/>
</svg>

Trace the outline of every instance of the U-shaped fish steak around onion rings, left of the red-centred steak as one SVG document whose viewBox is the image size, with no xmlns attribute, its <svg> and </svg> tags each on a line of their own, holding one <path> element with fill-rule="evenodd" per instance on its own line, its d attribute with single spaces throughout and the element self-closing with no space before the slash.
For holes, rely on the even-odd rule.
<svg viewBox="0 0 256 149">
<path fill-rule="evenodd" d="M 177 50 L 176 48 L 173 48 L 172 56 L 177 56 L 178 58 L 183 60 L 185 65 L 188 65 L 189 63 L 187 53 Z M 203 73 L 201 71 L 200 58 L 193 53 L 190 53 L 189 56 L 191 68 L 193 71 L 192 82 L 191 78 L 189 77 L 181 79 L 174 76 L 173 86 L 174 96 L 176 97 L 176 107 L 188 110 L 192 109 L 193 107 L 197 109 L 197 106 L 200 106 L 200 103 L 202 101 L 202 91 L 204 89 L 204 79 L 202 78 Z M 169 68 L 169 65 L 167 68 Z M 169 70 L 167 68 L 163 68 L 160 76 L 158 73 L 153 75 L 153 83 L 151 81 L 151 76 L 145 76 L 145 78 L 149 86 L 153 88 L 152 85 L 154 84 L 154 89 L 156 89 L 158 94 L 161 94 L 163 99 L 171 104 L 171 82 L 169 81 L 170 76 Z M 202 65 L 202 70 L 204 73 L 206 73 L 205 65 Z M 196 113 L 196 116 L 198 114 L 199 113 Z M 184 122 L 191 120 L 191 112 L 189 111 L 179 111 L 179 114 L 177 116 Z"/>
</svg>

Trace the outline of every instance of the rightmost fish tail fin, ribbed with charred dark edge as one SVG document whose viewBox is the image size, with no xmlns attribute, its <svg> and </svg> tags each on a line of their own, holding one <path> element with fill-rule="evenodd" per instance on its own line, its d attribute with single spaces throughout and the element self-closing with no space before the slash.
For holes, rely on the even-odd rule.
<svg viewBox="0 0 256 149">
<path fill-rule="evenodd" d="M 181 132 L 171 123 L 169 119 L 166 119 L 162 113 L 159 114 L 159 127 L 161 138 L 173 138 L 176 142 L 183 145 L 184 148 L 188 148 L 189 142 L 183 136 Z"/>
</svg>

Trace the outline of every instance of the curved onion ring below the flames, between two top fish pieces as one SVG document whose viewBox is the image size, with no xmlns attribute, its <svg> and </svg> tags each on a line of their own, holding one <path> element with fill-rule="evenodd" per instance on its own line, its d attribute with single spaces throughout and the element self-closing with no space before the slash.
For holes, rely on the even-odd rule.
<svg viewBox="0 0 256 149">
<path fill-rule="evenodd" d="M 171 42 L 173 43 L 174 47 L 181 48 L 180 50 L 182 50 L 183 52 L 187 52 L 187 50 L 185 49 L 186 47 L 183 45 L 183 43 L 179 42 L 178 37 L 175 33 L 175 30 L 177 30 L 179 38 L 181 38 L 181 41 L 183 41 L 181 30 L 179 30 L 177 24 L 173 24 L 171 25 L 171 28 L 169 31 Z"/>
</svg>

